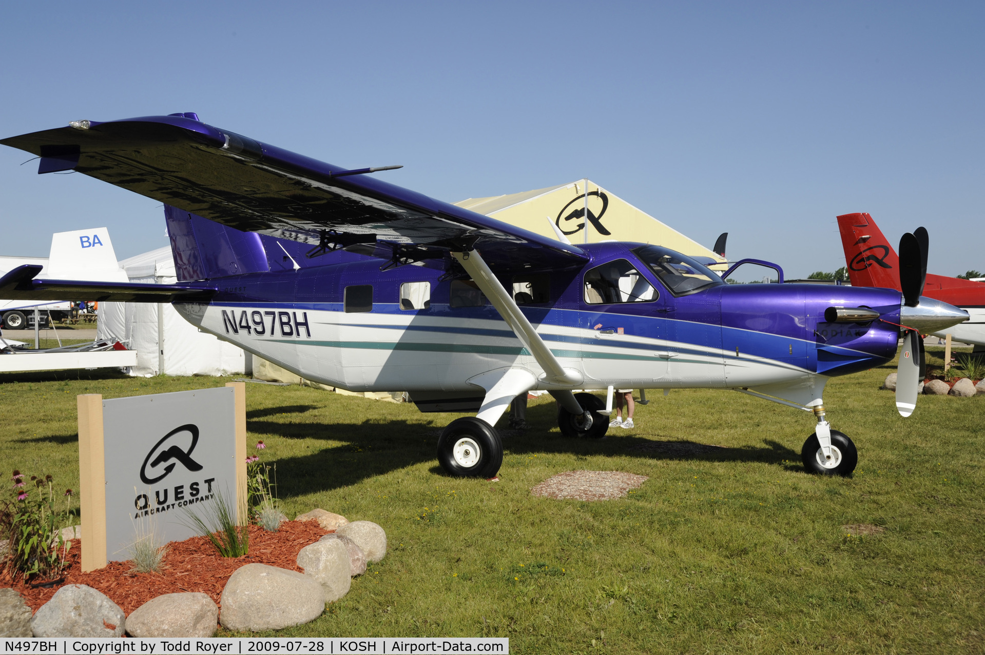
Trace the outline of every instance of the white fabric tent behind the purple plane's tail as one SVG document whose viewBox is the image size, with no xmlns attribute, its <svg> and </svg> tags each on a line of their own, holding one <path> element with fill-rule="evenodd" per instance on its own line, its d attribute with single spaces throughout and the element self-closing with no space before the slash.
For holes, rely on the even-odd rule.
<svg viewBox="0 0 985 655">
<path fill-rule="evenodd" d="M 130 282 L 174 284 L 170 247 L 120 262 Z M 137 351 L 131 375 L 229 375 L 251 372 L 251 357 L 181 318 L 166 302 L 100 302 L 97 338 Z"/>
</svg>

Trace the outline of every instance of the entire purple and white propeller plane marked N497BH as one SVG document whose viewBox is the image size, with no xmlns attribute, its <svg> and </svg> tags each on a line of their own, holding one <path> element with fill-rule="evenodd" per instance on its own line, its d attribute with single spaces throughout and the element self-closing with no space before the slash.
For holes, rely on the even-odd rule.
<svg viewBox="0 0 985 655">
<path fill-rule="evenodd" d="M 490 478 L 496 421 L 549 391 L 566 436 L 601 437 L 613 387 L 735 389 L 813 413 L 809 471 L 848 475 L 851 439 L 825 418 L 824 384 L 895 355 L 899 324 L 967 314 L 886 289 L 726 285 L 659 245 L 563 243 L 199 121 L 194 113 L 67 127 L 0 141 L 164 203 L 175 285 L 38 280 L 0 297 L 169 301 L 188 321 L 305 378 L 403 389 L 422 411 L 477 412 L 444 428 L 453 476 Z M 919 260 L 920 253 L 916 253 Z M 913 362 L 913 340 L 904 362 Z M 918 370 L 901 365 L 908 416 Z M 606 401 L 584 388 L 608 388 Z M 905 406 L 905 407 L 904 407 Z"/>
</svg>

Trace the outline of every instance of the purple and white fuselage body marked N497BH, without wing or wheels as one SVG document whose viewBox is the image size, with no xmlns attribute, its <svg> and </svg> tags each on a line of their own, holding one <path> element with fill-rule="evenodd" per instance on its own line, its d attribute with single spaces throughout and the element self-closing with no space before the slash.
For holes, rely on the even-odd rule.
<svg viewBox="0 0 985 655">
<path fill-rule="evenodd" d="M 586 388 L 796 383 L 871 368 L 895 354 L 894 325 L 826 323 L 823 314 L 832 305 L 866 305 L 891 321 L 898 318 L 898 292 L 716 284 L 676 296 L 634 256 L 631 249 L 639 245 L 585 246 L 589 263 L 542 274 L 546 296 L 521 306 L 558 360 L 582 373 Z M 175 306 L 201 329 L 248 352 L 352 391 L 467 390 L 469 378 L 507 366 L 540 376 L 537 361 L 496 309 L 481 296 L 482 304 L 461 306 L 463 296 L 453 297 L 455 281 L 443 271 L 417 265 L 380 271 L 379 260 L 354 261 L 344 252 L 325 257 L 339 261 L 225 278 L 211 302 Z M 622 260 L 641 272 L 655 297 L 589 302 L 586 272 Z M 522 277 L 500 282 L 509 289 Z M 402 303 L 409 284 L 427 284 L 427 308 L 420 300 L 402 308 L 413 304 Z M 364 295 L 366 287 L 370 303 L 347 302 L 347 289 L 362 288 Z M 539 377 L 537 388 L 558 387 Z"/>
</svg>

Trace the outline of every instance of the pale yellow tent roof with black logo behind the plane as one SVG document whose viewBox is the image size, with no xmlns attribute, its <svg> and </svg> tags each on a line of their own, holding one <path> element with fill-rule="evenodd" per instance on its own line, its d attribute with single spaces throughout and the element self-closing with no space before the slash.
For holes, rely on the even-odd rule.
<svg viewBox="0 0 985 655">
<path fill-rule="evenodd" d="M 586 187 L 587 226 L 584 220 Z M 637 241 L 663 245 L 692 257 L 725 261 L 724 257 L 587 179 L 521 193 L 469 198 L 455 204 L 518 228 L 558 238 L 551 227 L 554 224 L 575 245 L 613 240 Z"/>
</svg>

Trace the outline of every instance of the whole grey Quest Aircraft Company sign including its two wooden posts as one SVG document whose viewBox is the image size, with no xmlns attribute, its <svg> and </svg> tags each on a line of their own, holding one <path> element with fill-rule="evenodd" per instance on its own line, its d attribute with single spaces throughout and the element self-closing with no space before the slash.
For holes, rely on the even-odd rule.
<svg viewBox="0 0 985 655">
<path fill-rule="evenodd" d="M 241 382 L 111 400 L 79 396 L 83 570 L 130 559 L 133 544 L 152 532 L 162 545 L 195 536 L 187 512 L 211 516 L 218 495 L 238 510 L 245 432 Z"/>
</svg>

